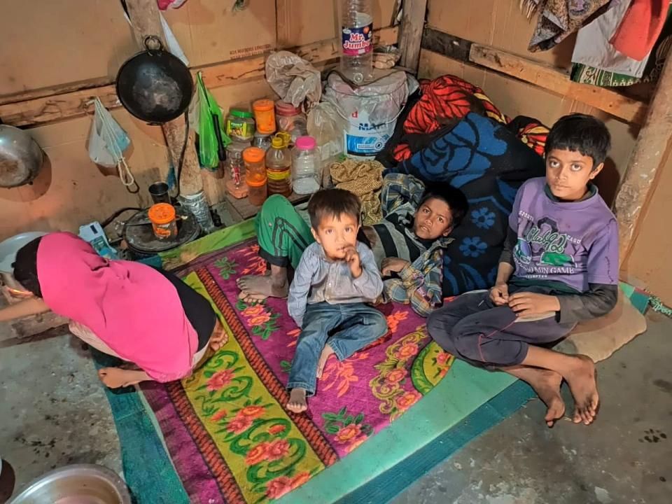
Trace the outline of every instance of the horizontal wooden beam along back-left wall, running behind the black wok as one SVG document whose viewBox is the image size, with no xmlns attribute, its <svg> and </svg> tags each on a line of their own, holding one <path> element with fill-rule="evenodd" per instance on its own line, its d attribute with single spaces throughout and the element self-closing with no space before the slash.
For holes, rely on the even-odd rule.
<svg viewBox="0 0 672 504">
<path fill-rule="evenodd" d="M 391 45 L 397 42 L 398 28 L 389 27 L 374 31 L 374 43 Z M 337 39 L 330 39 L 293 48 L 293 52 L 315 66 L 323 66 L 339 57 Z M 193 67 L 192 73 L 203 72 L 203 80 L 208 87 L 232 85 L 265 76 L 266 56 L 253 56 L 217 64 Z M 99 80 L 97 80 L 99 83 Z M 88 83 L 88 84 L 87 84 Z M 114 84 L 91 86 L 90 81 L 80 83 L 80 89 L 73 85 L 51 88 L 52 94 L 31 97 L 25 101 L 0 104 L 0 120 L 11 126 L 32 126 L 55 120 L 83 116 L 93 111 L 91 99 L 99 97 L 108 109 L 121 106 Z M 15 96 L 15 95 L 14 95 Z M 27 96 L 31 96 L 27 94 Z M 34 96 L 34 95 L 32 95 Z M 6 97 L 6 99 L 10 99 Z"/>
</svg>

